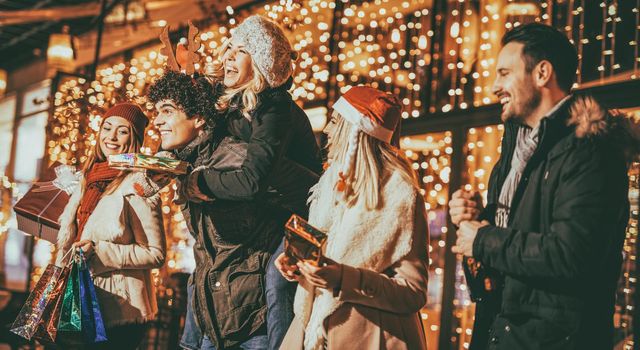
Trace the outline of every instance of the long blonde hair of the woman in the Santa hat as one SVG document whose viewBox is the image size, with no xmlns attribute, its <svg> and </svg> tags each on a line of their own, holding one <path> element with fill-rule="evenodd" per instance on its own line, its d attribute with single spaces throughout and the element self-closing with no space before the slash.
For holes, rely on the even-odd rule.
<svg viewBox="0 0 640 350">
<path fill-rule="evenodd" d="M 329 159 L 340 167 L 349 158 L 347 155 L 349 139 L 352 137 L 353 124 L 344 119 L 340 113 L 333 112 L 336 120 L 335 127 L 330 131 L 327 148 Z M 357 136 L 357 150 L 351 161 L 353 164 L 345 179 L 343 192 L 347 206 L 355 205 L 358 200 L 365 201 L 367 209 L 374 210 L 382 207 L 380 188 L 387 178 L 398 172 L 418 188 L 418 180 L 411 168 L 411 163 L 402 151 L 386 142 L 359 132 Z"/>
</svg>

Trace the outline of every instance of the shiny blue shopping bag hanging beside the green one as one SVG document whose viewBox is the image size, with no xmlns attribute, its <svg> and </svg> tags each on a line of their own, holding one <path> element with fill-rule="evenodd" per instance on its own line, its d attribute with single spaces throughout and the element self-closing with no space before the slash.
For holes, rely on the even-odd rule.
<svg viewBox="0 0 640 350">
<path fill-rule="evenodd" d="M 82 334 L 87 344 L 99 343 L 107 340 L 107 333 L 98 304 L 93 279 L 87 268 L 84 255 L 80 251 L 78 265 L 78 279 L 80 287 L 80 310 L 82 314 Z"/>
</svg>

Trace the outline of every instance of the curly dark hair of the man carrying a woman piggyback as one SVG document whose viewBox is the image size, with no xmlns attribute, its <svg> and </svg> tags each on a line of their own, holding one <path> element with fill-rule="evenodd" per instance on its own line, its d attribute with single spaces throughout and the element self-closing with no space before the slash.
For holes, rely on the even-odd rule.
<svg viewBox="0 0 640 350">
<path fill-rule="evenodd" d="M 167 71 L 151 85 L 148 99 L 154 104 L 171 100 L 187 117 L 202 116 L 207 124 L 215 126 L 219 113 L 216 102 L 221 94 L 218 85 L 205 77 L 191 78 L 183 73 Z"/>
</svg>

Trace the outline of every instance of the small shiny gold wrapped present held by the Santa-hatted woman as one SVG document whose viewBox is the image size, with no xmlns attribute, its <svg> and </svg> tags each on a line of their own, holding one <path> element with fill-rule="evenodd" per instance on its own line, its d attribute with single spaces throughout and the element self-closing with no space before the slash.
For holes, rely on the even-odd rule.
<svg viewBox="0 0 640 350">
<path fill-rule="evenodd" d="M 318 266 L 327 235 L 298 215 L 292 215 L 285 225 L 284 253 L 290 263 L 307 261 Z"/>
</svg>

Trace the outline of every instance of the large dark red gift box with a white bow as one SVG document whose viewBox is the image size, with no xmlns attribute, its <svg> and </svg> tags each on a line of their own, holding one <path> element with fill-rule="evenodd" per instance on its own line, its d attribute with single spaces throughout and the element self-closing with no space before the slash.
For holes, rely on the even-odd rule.
<svg viewBox="0 0 640 350">
<path fill-rule="evenodd" d="M 47 169 L 13 207 L 18 229 L 55 243 L 60 229 L 58 218 L 80 178 L 81 173 L 73 166 L 55 163 Z"/>
</svg>

